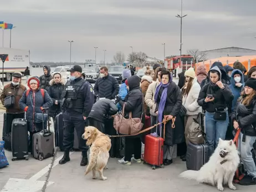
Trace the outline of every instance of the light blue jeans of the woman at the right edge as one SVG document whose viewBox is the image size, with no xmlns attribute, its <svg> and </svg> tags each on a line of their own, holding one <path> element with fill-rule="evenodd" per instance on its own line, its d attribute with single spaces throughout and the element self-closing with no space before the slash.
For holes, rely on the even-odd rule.
<svg viewBox="0 0 256 192">
<path fill-rule="evenodd" d="M 242 142 L 243 133 L 239 134 L 238 138 L 238 151 L 241 155 L 241 160 L 244 164 L 244 169 L 248 175 L 256 177 L 256 166 L 253 160 L 253 143 L 256 140 L 256 137 L 245 136 L 245 142 Z"/>
</svg>

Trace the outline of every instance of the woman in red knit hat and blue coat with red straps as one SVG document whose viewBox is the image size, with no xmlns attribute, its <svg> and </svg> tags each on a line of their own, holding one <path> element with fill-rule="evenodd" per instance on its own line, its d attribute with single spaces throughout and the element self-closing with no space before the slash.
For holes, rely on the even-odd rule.
<svg viewBox="0 0 256 192">
<path fill-rule="evenodd" d="M 43 129 L 43 123 L 35 123 L 35 113 L 41 113 L 43 108 L 48 108 L 53 105 L 52 98 L 44 89 L 38 89 L 40 86 L 39 77 L 34 76 L 28 80 L 29 92 L 24 91 L 19 107 L 26 112 L 26 120 L 28 121 L 28 131 L 30 132 L 30 146 L 32 149 L 32 136 Z M 44 128 L 47 128 L 47 123 L 44 123 Z"/>
</svg>

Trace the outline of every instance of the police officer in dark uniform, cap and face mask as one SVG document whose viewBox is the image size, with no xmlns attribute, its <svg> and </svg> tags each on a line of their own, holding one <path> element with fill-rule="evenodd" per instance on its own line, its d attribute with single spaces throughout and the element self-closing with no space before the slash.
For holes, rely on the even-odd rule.
<svg viewBox="0 0 256 192">
<path fill-rule="evenodd" d="M 69 151 L 73 147 L 74 128 L 79 139 L 79 149 L 82 152 L 81 166 L 88 164 L 85 141 L 81 138 L 84 133 L 85 121 L 93 107 L 93 89 L 83 79 L 82 68 L 74 65 L 70 70 L 70 80 L 66 82 L 62 93 L 62 111 L 64 121 L 63 147 L 64 155 L 59 164 L 70 161 Z"/>
</svg>

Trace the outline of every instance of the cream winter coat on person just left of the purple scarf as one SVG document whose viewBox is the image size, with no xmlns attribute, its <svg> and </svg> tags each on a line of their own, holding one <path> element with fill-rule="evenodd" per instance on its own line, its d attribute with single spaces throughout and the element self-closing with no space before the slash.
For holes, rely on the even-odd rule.
<svg viewBox="0 0 256 192">
<path fill-rule="evenodd" d="M 145 95 L 145 103 L 150 108 L 150 115 L 156 116 L 155 110 L 156 110 L 156 102 L 154 101 L 155 98 L 155 92 L 156 87 L 160 84 L 158 79 L 156 81 L 153 81 L 149 88 L 147 89 L 146 95 Z"/>
</svg>

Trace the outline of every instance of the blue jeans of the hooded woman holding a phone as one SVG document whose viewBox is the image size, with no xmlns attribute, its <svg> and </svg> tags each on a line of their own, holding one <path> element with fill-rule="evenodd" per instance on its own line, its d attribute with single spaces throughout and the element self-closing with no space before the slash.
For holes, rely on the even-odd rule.
<svg viewBox="0 0 256 192">
<path fill-rule="evenodd" d="M 225 121 L 214 120 L 214 113 L 206 111 L 206 144 L 209 146 L 209 155 L 211 156 L 218 146 L 219 138 L 225 139 L 228 129 L 228 111 Z"/>
</svg>

